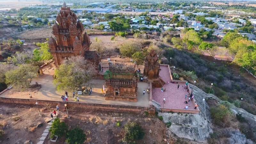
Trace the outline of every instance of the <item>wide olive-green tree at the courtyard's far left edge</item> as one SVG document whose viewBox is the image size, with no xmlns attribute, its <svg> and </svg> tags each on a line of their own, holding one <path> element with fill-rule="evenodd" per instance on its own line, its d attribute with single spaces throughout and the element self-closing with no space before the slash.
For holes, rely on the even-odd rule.
<svg viewBox="0 0 256 144">
<path fill-rule="evenodd" d="M 38 69 L 30 64 L 21 64 L 18 68 L 5 73 L 5 83 L 17 88 L 28 88 Z"/>
</svg>

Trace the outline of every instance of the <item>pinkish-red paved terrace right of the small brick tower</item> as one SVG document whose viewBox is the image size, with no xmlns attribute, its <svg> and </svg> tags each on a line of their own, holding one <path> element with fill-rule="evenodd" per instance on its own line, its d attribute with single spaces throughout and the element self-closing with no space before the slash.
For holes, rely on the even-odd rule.
<svg viewBox="0 0 256 144">
<path fill-rule="evenodd" d="M 159 73 L 159 76 L 165 81 L 171 82 L 170 72 L 168 67 L 160 66 L 161 71 Z M 177 85 L 180 85 L 180 88 L 177 88 Z M 188 104 L 185 104 L 185 94 L 188 95 L 187 90 L 182 88 L 182 85 L 185 86 L 184 83 L 178 83 L 178 84 L 165 84 L 164 89 L 166 88 L 166 92 L 161 92 L 161 88 L 154 88 L 152 92 L 153 100 L 157 101 L 161 104 L 161 108 L 176 108 L 176 109 L 184 109 Z M 165 103 L 163 102 L 165 98 Z M 188 101 L 188 97 L 186 99 Z M 190 103 L 191 107 L 188 107 L 188 109 L 194 109 L 195 103 L 194 101 L 191 101 Z"/>
</svg>

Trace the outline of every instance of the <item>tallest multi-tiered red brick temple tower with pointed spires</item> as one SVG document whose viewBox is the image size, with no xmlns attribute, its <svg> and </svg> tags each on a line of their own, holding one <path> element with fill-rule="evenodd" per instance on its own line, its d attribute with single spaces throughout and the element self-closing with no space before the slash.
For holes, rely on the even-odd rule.
<svg viewBox="0 0 256 144">
<path fill-rule="evenodd" d="M 58 23 L 57 23 L 57 22 Z M 55 60 L 55 65 L 58 67 L 62 60 L 71 56 L 85 56 L 86 51 L 93 53 L 95 59 L 90 61 L 95 62 L 100 68 L 100 56 L 95 51 L 90 50 L 90 38 L 84 31 L 83 24 L 78 21 L 74 12 L 63 3 L 60 14 L 57 15 L 56 21 L 52 26 L 52 34 L 56 37 L 57 42 L 51 36 L 49 39 L 49 49 Z M 84 32 L 84 33 L 83 33 Z M 86 57 L 85 57 L 86 58 Z"/>
</svg>

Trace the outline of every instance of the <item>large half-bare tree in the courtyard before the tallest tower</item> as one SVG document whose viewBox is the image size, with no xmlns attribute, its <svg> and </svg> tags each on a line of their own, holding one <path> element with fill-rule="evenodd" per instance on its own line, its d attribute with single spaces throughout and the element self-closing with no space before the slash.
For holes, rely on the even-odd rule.
<svg viewBox="0 0 256 144">
<path fill-rule="evenodd" d="M 55 69 L 53 84 L 57 90 L 82 90 L 96 73 L 95 65 L 84 57 L 70 57 Z"/>
</svg>

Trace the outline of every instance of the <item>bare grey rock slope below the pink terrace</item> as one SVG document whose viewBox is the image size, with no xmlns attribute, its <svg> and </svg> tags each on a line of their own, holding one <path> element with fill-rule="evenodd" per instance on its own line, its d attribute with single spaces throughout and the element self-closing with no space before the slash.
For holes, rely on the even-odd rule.
<svg viewBox="0 0 256 144">
<path fill-rule="evenodd" d="M 203 99 L 210 98 L 218 102 L 221 102 L 218 97 L 213 94 L 207 94 L 193 84 L 188 84 L 190 91 L 193 91 L 194 99 L 199 104 L 199 114 L 178 114 L 178 113 L 159 113 L 159 116 L 163 116 L 164 122 L 172 122 L 168 131 L 174 132 L 177 136 L 187 138 L 190 140 L 204 141 L 209 137 L 212 132 L 211 129 L 211 116 L 210 108 L 206 101 Z M 250 119 L 256 122 L 256 116 L 248 113 L 242 108 L 237 108 L 234 105 L 231 107 L 234 113 L 241 113 L 246 119 Z"/>
</svg>

